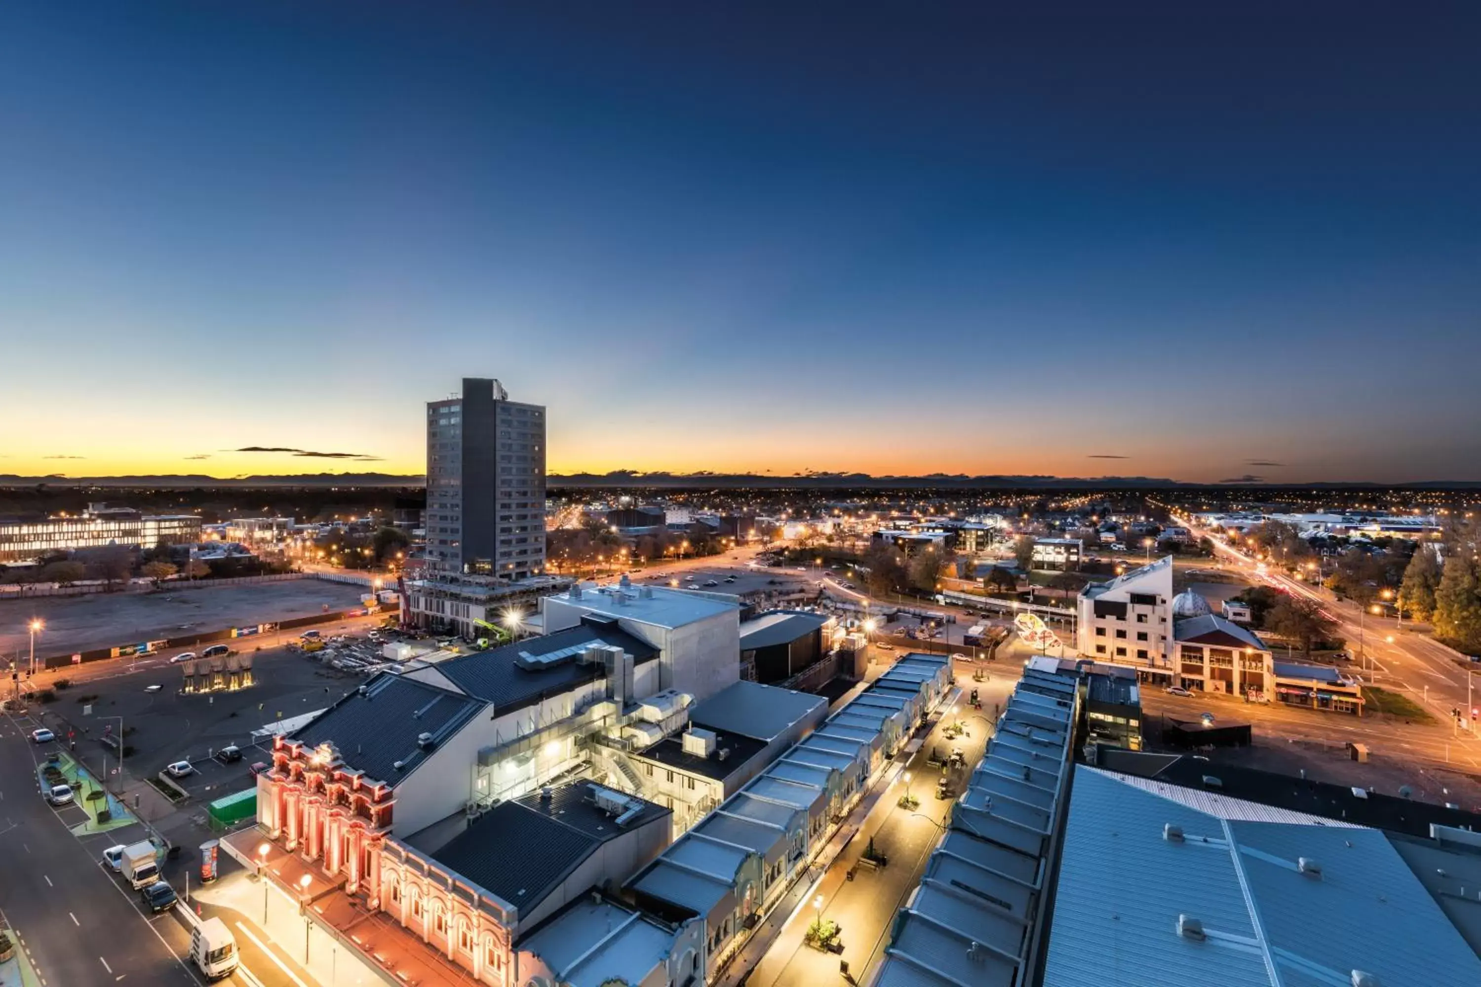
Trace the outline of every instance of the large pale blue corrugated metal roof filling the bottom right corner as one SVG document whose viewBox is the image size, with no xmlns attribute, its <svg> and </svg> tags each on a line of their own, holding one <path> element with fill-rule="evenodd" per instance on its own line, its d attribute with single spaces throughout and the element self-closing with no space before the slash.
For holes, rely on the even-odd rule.
<svg viewBox="0 0 1481 987">
<path fill-rule="evenodd" d="M 1229 821 L 1139 781 L 1075 772 L 1044 983 L 1481 983 L 1481 959 L 1377 830 Z M 1179 937 L 1179 914 L 1207 938 Z"/>
</svg>

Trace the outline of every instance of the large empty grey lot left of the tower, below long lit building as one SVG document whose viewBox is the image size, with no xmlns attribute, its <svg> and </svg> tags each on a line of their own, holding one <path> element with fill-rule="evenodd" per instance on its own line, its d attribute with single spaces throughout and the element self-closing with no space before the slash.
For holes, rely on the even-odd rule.
<svg viewBox="0 0 1481 987">
<path fill-rule="evenodd" d="M 44 624 L 37 657 L 275 623 L 360 605 L 361 589 L 318 579 L 0 601 L 0 654 L 28 654 L 27 624 Z"/>
</svg>

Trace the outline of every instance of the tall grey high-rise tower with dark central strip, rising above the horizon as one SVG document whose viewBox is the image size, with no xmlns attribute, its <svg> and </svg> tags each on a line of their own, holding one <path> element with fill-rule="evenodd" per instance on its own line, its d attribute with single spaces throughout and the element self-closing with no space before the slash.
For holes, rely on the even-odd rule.
<svg viewBox="0 0 1481 987">
<path fill-rule="evenodd" d="M 427 558 L 444 573 L 545 571 L 545 408 L 498 380 L 427 404 Z"/>
</svg>

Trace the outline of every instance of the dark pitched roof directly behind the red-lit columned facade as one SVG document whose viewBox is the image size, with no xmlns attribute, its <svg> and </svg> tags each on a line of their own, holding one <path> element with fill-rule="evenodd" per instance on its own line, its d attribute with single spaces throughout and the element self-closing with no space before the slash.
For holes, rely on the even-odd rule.
<svg viewBox="0 0 1481 987">
<path fill-rule="evenodd" d="M 394 786 L 483 707 L 477 698 L 435 685 L 378 675 L 296 730 L 293 740 L 311 747 L 329 741 L 347 765 Z M 416 746 L 424 732 L 432 735 L 429 750 Z"/>
</svg>

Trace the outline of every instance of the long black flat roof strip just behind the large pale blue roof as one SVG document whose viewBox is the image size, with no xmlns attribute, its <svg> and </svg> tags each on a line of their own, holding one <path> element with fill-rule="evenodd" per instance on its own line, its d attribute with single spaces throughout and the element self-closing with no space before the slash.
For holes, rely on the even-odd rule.
<svg viewBox="0 0 1481 987">
<path fill-rule="evenodd" d="M 1112 769 L 1127 771 L 1123 764 Z M 1410 836 L 1429 836 L 1431 823 L 1481 829 L 1481 814 L 1477 812 L 1447 809 L 1444 805 L 1417 802 L 1398 795 L 1354 790 L 1345 784 L 1214 764 L 1189 755 L 1173 761 L 1151 777 L 1185 789 L 1204 789 L 1206 775 L 1219 778 L 1219 795 Z"/>
</svg>

